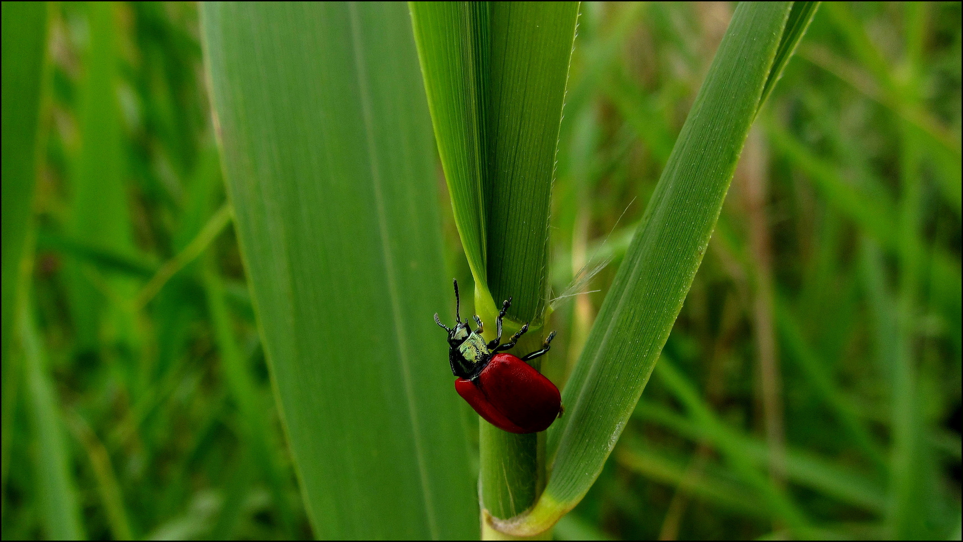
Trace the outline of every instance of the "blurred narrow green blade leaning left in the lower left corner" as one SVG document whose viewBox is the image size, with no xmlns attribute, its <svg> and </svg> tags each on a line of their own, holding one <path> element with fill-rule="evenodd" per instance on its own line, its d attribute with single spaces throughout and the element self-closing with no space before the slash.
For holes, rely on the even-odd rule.
<svg viewBox="0 0 963 542">
<path fill-rule="evenodd" d="M 84 527 L 80 519 L 60 405 L 53 382 L 50 381 L 46 351 L 32 311 L 26 302 L 21 305 L 17 321 L 26 362 L 30 421 L 37 439 L 34 476 L 38 483 L 37 494 L 40 497 L 45 534 L 52 540 L 80 540 L 85 538 Z"/>
</svg>

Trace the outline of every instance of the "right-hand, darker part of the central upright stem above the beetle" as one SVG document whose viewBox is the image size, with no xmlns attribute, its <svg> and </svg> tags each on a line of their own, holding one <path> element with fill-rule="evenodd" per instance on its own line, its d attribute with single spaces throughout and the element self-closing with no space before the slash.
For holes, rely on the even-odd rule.
<svg viewBox="0 0 963 542">
<path fill-rule="evenodd" d="M 508 315 L 540 327 L 548 218 L 577 2 L 494 2 L 486 183 L 488 288 Z"/>
</svg>

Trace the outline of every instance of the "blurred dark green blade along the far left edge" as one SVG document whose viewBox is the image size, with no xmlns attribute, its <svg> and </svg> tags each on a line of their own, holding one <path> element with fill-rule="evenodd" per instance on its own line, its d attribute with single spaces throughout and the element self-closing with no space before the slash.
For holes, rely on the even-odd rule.
<svg viewBox="0 0 963 542">
<path fill-rule="evenodd" d="M 3 499 L 7 499 L 10 465 L 10 430 L 20 376 L 9 355 L 14 305 L 20 283 L 20 263 L 30 229 L 37 179 L 40 79 L 46 46 L 47 5 L 43 2 L 3 3 L 3 273 L 2 338 L 3 364 Z M 6 511 L 6 505 L 4 510 Z"/>
</svg>

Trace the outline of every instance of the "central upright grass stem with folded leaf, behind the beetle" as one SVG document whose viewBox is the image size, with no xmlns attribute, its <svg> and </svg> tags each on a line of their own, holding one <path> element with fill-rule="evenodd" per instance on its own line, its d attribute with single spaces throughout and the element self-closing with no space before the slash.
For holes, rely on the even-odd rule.
<svg viewBox="0 0 963 542">
<path fill-rule="evenodd" d="M 475 278 L 475 311 L 494 338 L 495 308 L 511 297 L 506 333 L 532 323 L 516 351 L 542 340 L 552 177 L 578 9 L 577 2 L 410 4 L 435 139 Z M 485 509 L 501 518 L 521 513 L 544 485 L 538 437 L 482 423 L 480 440 Z"/>
</svg>

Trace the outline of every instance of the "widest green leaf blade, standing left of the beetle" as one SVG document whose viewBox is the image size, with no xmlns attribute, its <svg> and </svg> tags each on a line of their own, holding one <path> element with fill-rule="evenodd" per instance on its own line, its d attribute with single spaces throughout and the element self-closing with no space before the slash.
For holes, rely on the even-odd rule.
<svg viewBox="0 0 963 542">
<path fill-rule="evenodd" d="M 319 538 L 478 536 L 403 4 L 204 4 L 227 192 Z M 254 62 L 252 62 L 254 61 Z"/>
</svg>

